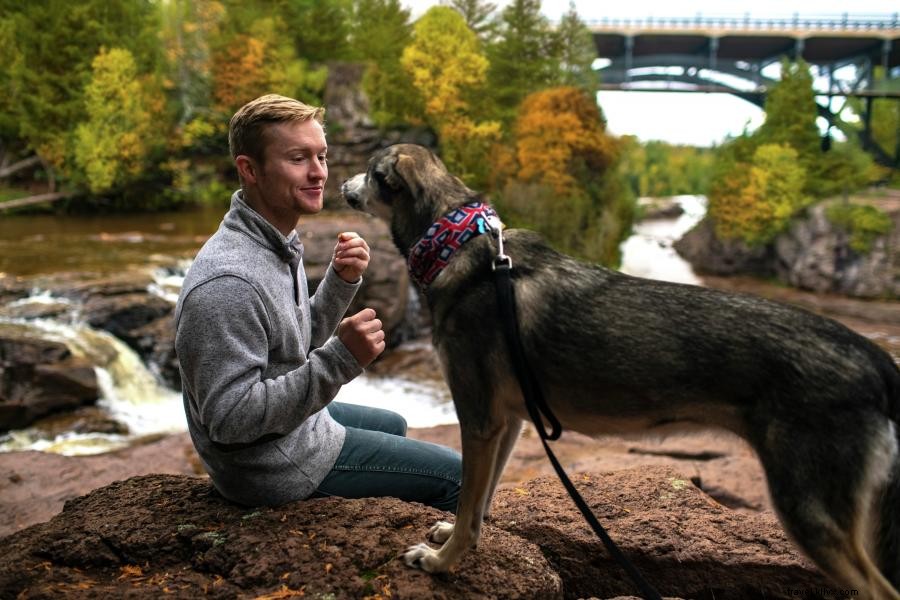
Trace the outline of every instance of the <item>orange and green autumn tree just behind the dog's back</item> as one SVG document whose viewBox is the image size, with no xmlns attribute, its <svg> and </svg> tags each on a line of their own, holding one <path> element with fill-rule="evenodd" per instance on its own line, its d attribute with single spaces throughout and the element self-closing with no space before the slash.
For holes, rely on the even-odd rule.
<svg viewBox="0 0 900 600">
<path fill-rule="evenodd" d="M 563 252 L 617 264 L 634 202 L 591 95 L 574 87 L 531 94 L 514 138 L 517 170 L 498 199 L 504 218 L 537 229 Z"/>
</svg>

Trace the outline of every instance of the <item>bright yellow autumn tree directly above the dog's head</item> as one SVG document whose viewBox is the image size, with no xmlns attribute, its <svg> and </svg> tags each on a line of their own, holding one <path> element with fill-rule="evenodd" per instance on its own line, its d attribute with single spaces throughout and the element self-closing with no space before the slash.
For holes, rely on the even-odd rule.
<svg viewBox="0 0 900 600">
<path fill-rule="evenodd" d="M 483 92 L 488 68 L 475 33 L 455 10 L 434 6 L 416 22 L 401 64 L 424 100 L 426 120 L 438 133 L 447 166 L 481 187 L 500 124 L 472 114 L 472 99 Z"/>
</svg>

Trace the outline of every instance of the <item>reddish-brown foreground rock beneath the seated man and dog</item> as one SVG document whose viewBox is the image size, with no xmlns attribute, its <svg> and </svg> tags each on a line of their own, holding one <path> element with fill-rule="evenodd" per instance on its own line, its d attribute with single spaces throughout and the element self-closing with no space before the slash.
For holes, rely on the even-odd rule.
<svg viewBox="0 0 900 600">
<path fill-rule="evenodd" d="M 410 435 L 459 448 L 455 426 Z M 785 537 L 758 463 L 740 440 L 566 433 L 554 448 L 598 518 L 665 596 L 789 598 L 792 590 L 828 585 Z M 387 498 L 235 506 L 198 475 L 186 435 L 94 457 L 15 454 L 0 455 L 0 534 L 11 533 L 0 542 L 7 549 L 0 597 L 634 593 L 551 475 L 530 429 L 479 547 L 442 576 L 408 569 L 398 556 L 434 521 L 452 516 Z"/>
</svg>

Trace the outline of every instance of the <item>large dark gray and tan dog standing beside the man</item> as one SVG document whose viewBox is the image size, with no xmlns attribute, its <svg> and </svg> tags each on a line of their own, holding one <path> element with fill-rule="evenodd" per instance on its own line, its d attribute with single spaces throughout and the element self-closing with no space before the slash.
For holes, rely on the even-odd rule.
<svg viewBox="0 0 900 600">
<path fill-rule="evenodd" d="M 440 549 L 422 543 L 404 559 L 445 572 L 478 542 L 528 418 L 492 279 L 498 239 L 480 231 L 491 211 L 411 144 L 375 153 L 341 191 L 389 223 L 431 312 L 463 481 L 455 525 L 428 533 Z M 476 224 L 447 259 L 441 230 L 466 215 Z M 563 428 L 738 434 L 759 456 L 782 525 L 816 565 L 862 597 L 900 599 L 900 370 L 887 352 L 799 308 L 628 276 L 556 252 L 527 230 L 501 235 L 521 343 Z"/>
</svg>

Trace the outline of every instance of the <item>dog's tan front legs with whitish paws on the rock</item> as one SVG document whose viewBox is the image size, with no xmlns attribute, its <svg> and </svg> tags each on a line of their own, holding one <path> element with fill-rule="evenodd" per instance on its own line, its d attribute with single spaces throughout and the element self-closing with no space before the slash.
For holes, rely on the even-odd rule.
<svg viewBox="0 0 900 600">
<path fill-rule="evenodd" d="M 439 522 L 429 537 L 444 540 L 440 550 L 425 543 L 409 548 L 403 555 L 406 564 L 429 573 L 443 573 L 459 562 L 460 557 L 478 543 L 485 507 L 490 501 L 492 482 L 498 467 L 500 450 L 509 437 L 509 424 L 504 423 L 488 437 L 476 437 L 461 423 L 463 481 L 456 511 L 456 524 Z"/>
</svg>

